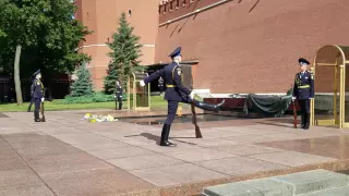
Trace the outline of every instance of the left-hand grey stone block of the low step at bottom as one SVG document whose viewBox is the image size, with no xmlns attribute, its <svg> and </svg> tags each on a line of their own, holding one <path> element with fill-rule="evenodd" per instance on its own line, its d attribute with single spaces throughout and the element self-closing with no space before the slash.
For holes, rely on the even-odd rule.
<svg viewBox="0 0 349 196">
<path fill-rule="evenodd" d="M 270 179 L 257 179 L 206 187 L 206 196 L 292 196 L 292 185 Z"/>
</svg>

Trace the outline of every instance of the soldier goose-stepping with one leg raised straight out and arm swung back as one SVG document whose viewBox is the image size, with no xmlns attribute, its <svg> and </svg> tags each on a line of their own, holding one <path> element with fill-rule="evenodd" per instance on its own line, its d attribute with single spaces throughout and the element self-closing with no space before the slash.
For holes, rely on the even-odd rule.
<svg viewBox="0 0 349 196">
<path fill-rule="evenodd" d="M 168 140 L 168 136 L 170 133 L 171 124 L 176 118 L 176 111 L 179 102 L 184 103 L 194 103 L 195 107 L 209 110 L 209 111 L 218 111 L 220 107 L 224 105 L 224 101 L 219 105 L 208 105 L 197 100 L 192 99 L 192 91 L 183 86 L 182 84 L 182 69 L 180 62 L 182 60 L 181 56 L 181 47 L 176 48 L 176 50 L 169 54 L 172 59 L 172 63 L 166 65 L 164 69 L 156 71 L 152 75 L 141 81 L 141 86 L 144 86 L 147 83 L 151 83 L 154 79 L 159 78 L 160 76 L 164 78 L 166 84 L 166 93 L 165 99 L 168 101 L 168 114 L 167 119 L 163 126 L 161 132 L 161 140 L 160 146 L 176 146 Z"/>
</svg>

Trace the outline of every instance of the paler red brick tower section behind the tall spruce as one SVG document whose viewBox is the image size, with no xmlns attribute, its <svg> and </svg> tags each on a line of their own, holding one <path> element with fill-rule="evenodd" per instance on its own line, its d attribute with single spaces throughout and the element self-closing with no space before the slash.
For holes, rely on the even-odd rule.
<svg viewBox="0 0 349 196">
<path fill-rule="evenodd" d="M 155 45 L 158 29 L 158 1 L 157 0 L 77 0 L 79 10 L 76 19 L 83 25 L 93 30 L 92 35 L 85 37 L 81 46 L 104 45 L 112 41 L 112 34 L 117 32 L 121 12 L 129 13 L 127 16 L 134 34 L 141 37 L 142 45 Z M 92 57 L 88 69 L 92 72 L 94 88 L 101 90 L 104 87 L 104 76 L 108 69 L 110 52 L 107 46 L 91 46 L 82 48 L 80 51 Z M 142 64 L 153 64 L 155 60 L 155 47 L 144 46 L 141 57 Z"/>
</svg>

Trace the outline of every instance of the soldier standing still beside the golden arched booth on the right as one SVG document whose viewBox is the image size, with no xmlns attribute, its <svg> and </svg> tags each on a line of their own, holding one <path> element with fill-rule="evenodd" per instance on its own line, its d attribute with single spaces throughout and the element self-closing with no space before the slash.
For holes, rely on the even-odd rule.
<svg viewBox="0 0 349 196">
<path fill-rule="evenodd" d="M 314 98 L 314 75 L 306 71 L 309 61 L 298 60 L 301 72 L 296 74 L 292 99 L 297 99 L 301 108 L 301 128 L 308 130 L 310 125 L 310 99 Z"/>
</svg>

